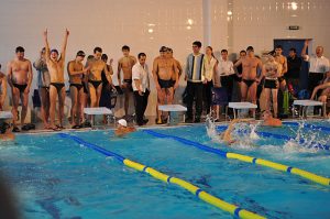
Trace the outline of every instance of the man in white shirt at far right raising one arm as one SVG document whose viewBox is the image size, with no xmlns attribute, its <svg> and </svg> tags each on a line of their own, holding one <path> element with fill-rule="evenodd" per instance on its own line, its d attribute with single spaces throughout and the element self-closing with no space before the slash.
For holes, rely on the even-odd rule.
<svg viewBox="0 0 330 219">
<path fill-rule="evenodd" d="M 301 51 L 301 57 L 304 61 L 309 62 L 308 91 L 311 94 L 314 88 L 321 84 L 330 69 L 329 59 L 323 56 L 323 47 L 317 46 L 316 54 L 309 56 L 306 54 L 308 44 L 309 40 L 306 40 Z"/>
</svg>

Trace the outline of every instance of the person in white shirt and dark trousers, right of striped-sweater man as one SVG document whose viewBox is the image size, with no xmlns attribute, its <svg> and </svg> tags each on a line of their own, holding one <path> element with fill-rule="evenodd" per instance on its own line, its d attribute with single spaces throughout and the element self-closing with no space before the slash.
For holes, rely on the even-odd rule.
<svg viewBox="0 0 330 219">
<path fill-rule="evenodd" d="M 221 51 L 221 58 L 218 65 L 218 74 L 220 75 L 221 87 L 224 87 L 228 92 L 228 101 L 231 101 L 231 94 L 234 79 L 233 63 L 228 59 L 228 51 Z"/>
</svg>

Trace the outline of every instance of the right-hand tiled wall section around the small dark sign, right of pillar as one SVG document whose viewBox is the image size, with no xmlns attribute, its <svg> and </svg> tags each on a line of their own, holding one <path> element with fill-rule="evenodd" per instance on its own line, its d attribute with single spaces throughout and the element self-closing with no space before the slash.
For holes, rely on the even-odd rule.
<svg viewBox="0 0 330 219">
<path fill-rule="evenodd" d="M 254 45 L 256 53 L 273 48 L 273 39 L 314 39 L 330 54 L 330 1 L 233 0 L 233 52 Z M 289 25 L 299 30 L 290 31 Z M 299 52 L 300 53 L 300 52 Z"/>
</svg>

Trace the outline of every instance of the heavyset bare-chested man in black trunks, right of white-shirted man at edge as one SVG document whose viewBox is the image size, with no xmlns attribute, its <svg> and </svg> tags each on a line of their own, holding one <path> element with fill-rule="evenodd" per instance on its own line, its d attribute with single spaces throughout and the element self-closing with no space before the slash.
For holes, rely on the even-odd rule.
<svg viewBox="0 0 330 219">
<path fill-rule="evenodd" d="M 178 87 L 178 67 L 176 61 L 170 57 L 168 48 L 161 47 L 161 56 L 156 57 L 153 63 L 153 76 L 157 89 L 158 105 L 172 105 L 174 90 Z M 175 83 L 172 78 L 175 78 Z M 157 109 L 157 124 L 166 122 L 165 114 Z"/>
</svg>

